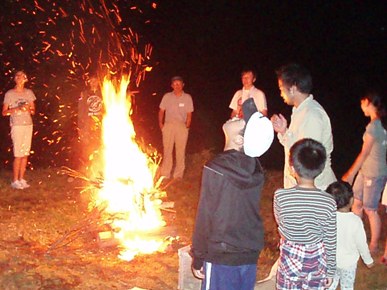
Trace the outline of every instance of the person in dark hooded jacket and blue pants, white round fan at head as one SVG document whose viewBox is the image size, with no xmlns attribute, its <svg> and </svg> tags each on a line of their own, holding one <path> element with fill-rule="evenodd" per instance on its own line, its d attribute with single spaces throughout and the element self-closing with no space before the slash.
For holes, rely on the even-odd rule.
<svg viewBox="0 0 387 290">
<path fill-rule="evenodd" d="M 258 158 L 270 147 L 274 131 L 253 99 L 243 104 L 244 119 L 223 125 L 224 152 L 203 168 L 192 237 L 193 274 L 202 289 L 254 289 L 263 248 L 260 197 L 264 173 Z"/>
</svg>

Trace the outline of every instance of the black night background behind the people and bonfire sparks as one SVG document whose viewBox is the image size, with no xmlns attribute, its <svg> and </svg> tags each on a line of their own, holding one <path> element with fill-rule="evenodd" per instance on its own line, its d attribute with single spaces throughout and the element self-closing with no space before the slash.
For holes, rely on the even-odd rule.
<svg viewBox="0 0 387 290">
<path fill-rule="evenodd" d="M 48 17 L 60 14 L 58 5 L 47 0 L 40 3 L 47 6 L 42 6 L 45 11 L 41 11 L 34 3 L 8 0 L 5 2 L 8 6 L 0 12 L 2 94 L 13 86 L 11 73 L 24 68 L 32 77 L 29 86 L 38 97 L 40 112 L 35 116 L 37 133 L 31 165 L 71 165 L 78 146 L 74 123 L 76 100 L 84 87 L 84 73 L 95 70 L 92 64 L 95 55 L 100 50 L 106 52 L 103 42 L 109 38 L 104 28 L 106 18 L 92 18 L 86 13 L 90 10 L 79 10 L 82 5 L 89 5 L 99 11 L 101 1 L 58 1 L 68 16 L 58 18 L 55 25 L 51 23 L 46 29 L 42 23 L 50 23 Z M 275 70 L 289 62 L 305 65 L 313 76 L 313 94 L 331 118 L 335 143 L 332 161 L 338 176 L 351 165 L 361 149 L 368 120 L 360 110 L 359 98 L 370 88 L 377 88 L 386 95 L 385 1 L 109 3 L 116 5 L 110 6 L 111 11 L 119 10 L 123 19 L 116 31 L 125 35 L 128 33 L 125 28 L 130 26 L 139 33 L 139 45 L 149 43 L 153 47 L 149 61 L 152 71 L 146 74 L 139 88 L 132 85 L 131 89 L 139 91 L 133 113 L 138 138 L 160 152 L 158 105 L 162 95 L 170 90 L 170 78 L 174 75 L 184 78 L 185 91 L 194 99 L 188 152 L 205 149 L 219 152 L 223 146 L 221 126 L 229 117 L 228 105 L 234 92 L 241 88 L 241 70 L 245 67 L 256 70 L 255 85 L 266 94 L 269 116 L 280 112 L 290 121 L 291 108 L 279 95 Z M 35 14 L 23 10 L 28 5 L 27 10 Z M 17 19 L 23 19 L 23 25 L 11 25 Z M 89 41 L 94 37 L 90 34 L 85 46 L 77 37 L 80 26 L 74 20 L 79 19 L 85 19 L 87 25 L 106 35 L 95 43 Z M 38 32 L 42 29 L 47 32 L 43 36 Z M 72 41 L 59 41 L 66 37 Z M 59 58 L 57 53 L 37 54 L 47 39 L 53 46 L 72 50 L 74 54 L 67 59 Z M 20 43 L 24 43 L 23 50 L 20 50 Z M 28 48 L 27 43 L 34 46 Z M 74 55 L 78 57 L 77 63 L 70 65 Z M 7 118 L 1 120 L 0 126 L 3 140 L 0 158 L 7 166 L 12 160 Z M 283 149 L 277 140 L 262 157 L 262 162 L 267 168 L 282 168 Z"/>
</svg>

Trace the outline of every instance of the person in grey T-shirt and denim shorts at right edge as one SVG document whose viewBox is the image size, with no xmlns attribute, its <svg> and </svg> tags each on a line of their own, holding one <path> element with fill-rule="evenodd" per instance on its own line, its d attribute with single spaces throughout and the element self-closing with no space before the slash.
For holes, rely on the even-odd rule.
<svg viewBox="0 0 387 290">
<path fill-rule="evenodd" d="M 360 107 L 364 116 L 371 119 L 363 135 L 363 147 L 355 162 L 343 175 L 342 180 L 353 184 L 354 202 L 352 211 L 362 217 L 366 213 L 371 228 L 371 253 L 378 250 L 381 220 L 378 214 L 379 201 L 387 180 L 386 112 L 382 97 L 369 93 L 362 97 Z"/>
</svg>

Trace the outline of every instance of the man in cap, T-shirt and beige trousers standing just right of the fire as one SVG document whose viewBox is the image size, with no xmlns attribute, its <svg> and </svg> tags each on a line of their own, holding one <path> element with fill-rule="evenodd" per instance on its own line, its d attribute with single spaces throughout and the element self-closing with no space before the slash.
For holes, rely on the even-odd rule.
<svg viewBox="0 0 387 290">
<path fill-rule="evenodd" d="M 163 161 L 161 176 L 171 178 L 173 166 L 173 148 L 175 147 L 176 164 L 173 178 L 182 179 L 185 169 L 185 148 L 194 111 L 191 95 L 184 92 L 184 81 L 180 76 L 171 79 L 172 92 L 166 93 L 160 103 L 159 127 L 163 136 Z"/>
</svg>

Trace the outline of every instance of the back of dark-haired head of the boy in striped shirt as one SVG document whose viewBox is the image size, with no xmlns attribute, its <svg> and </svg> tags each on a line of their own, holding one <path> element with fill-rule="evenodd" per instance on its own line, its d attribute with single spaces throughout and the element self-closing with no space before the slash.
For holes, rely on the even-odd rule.
<svg viewBox="0 0 387 290">
<path fill-rule="evenodd" d="M 301 139 L 290 148 L 290 165 L 302 178 L 315 179 L 323 171 L 326 159 L 324 146 L 310 138 Z"/>
</svg>

